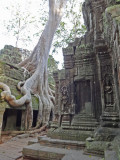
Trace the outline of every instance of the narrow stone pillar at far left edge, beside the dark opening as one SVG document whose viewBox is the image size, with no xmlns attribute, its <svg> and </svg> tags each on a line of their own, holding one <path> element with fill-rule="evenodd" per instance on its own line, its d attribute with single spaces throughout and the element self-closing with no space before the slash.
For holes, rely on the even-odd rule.
<svg viewBox="0 0 120 160">
<path fill-rule="evenodd" d="M 5 105 L 4 103 L 0 103 L 0 141 L 1 141 L 1 131 L 2 131 L 4 112 L 5 112 Z"/>
</svg>

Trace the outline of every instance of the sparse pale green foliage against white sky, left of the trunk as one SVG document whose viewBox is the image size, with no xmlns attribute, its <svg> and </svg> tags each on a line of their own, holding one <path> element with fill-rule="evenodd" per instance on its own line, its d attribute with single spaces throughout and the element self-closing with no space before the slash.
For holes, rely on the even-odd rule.
<svg viewBox="0 0 120 160">
<path fill-rule="evenodd" d="M 10 18 L 4 20 L 4 27 L 7 33 L 14 37 L 15 46 L 18 47 L 19 42 L 27 46 L 32 41 L 29 33 L 30 25 L 35 22 L 35 17 L 29 10 L 22 10 L 19 3 L 6 7 L 6 12 Z"/>
</svg>

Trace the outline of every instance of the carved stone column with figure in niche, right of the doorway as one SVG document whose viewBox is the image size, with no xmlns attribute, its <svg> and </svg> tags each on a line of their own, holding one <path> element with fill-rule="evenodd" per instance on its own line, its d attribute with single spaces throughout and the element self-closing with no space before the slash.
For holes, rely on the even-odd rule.
<svg viewBox="0 0 120 160">
<path fill-rule="evenodd" d="M 113 64 L 111 53 L 108 52 L 107 46 L 96 45 L 96 53 L 100 61 L 100 83 L 101 83 L 101 102 L 102 115 L 101 127 L 118 127 L 119 114 L 116 103 L 115 80 L 113 75 Z"/>
</svg>

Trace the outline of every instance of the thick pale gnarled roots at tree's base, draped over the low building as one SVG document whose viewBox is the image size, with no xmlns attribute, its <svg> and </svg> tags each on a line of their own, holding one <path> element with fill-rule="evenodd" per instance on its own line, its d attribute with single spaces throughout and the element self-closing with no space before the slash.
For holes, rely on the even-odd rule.
<svg viewBox="0 0 120 160">
<path fill-rule="evenodd" d="M 32 108 L 32 101 L 31 101 L 31 94 L 27 89 L 24 88 L 24 82 L 19 82 L 17 87 L 23 94 L 23 97 L 18 100 L 16 100 L 15 96 L 11 94 L 10 88 L 6 84 L 0 82 L 0 89 L 3 90 L 1 92 L 1 99 L 6 100 L 10 104 L 10 106 L 13 108 L 22 107 L 24 104 L 26 105 L 27 111 L 26 111 L 26 119 L 25 119 L 25 129 L 35 130 L 40 128 L 41 124 L 48 125 L 50 112 L 54 108 L 54 104 L 53 104 L 54 97 L 49 96 L 47 91 L 46 91 L 46 96 L 39 96 L 38 94 L 35 95 L 39 100 L 39 109 L 38 109 L 36 127 L 32 128 L 33 108 Z M 45 97 L 47 97 L 49 101 Z"/>
</svg>

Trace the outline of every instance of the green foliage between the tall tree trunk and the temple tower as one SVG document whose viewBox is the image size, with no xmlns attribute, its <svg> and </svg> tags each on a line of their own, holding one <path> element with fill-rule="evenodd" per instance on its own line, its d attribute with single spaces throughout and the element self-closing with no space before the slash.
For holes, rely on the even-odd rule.
<svg viewBox="0 0 120 160">
<path fill-rule="evenodd" d="M 68 43 L 86 32 L 86 27 L 80 19 L 82 19 L 82 3 L 79 0 L 69 0 L 54 36 L 52 53 L 58 52 L 59 47 L 66 47 Z"/>
</svg>

